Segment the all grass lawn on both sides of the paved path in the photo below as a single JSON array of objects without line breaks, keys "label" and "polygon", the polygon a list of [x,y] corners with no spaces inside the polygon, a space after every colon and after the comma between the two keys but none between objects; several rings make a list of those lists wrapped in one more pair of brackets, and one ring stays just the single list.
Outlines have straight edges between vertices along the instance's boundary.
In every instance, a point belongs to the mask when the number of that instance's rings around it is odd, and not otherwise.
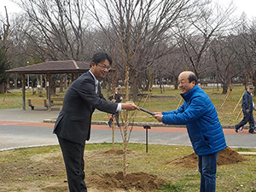
[{"label": "all grass lawn on both sides of the paved path", "polygon": [[[222,90],[216,88],[204,88],[212,99],[222,125],[234,125],[240,121],[236,119],[240,109],[233,112],[237,102],[244,91],[243,86],[235,86],[232,94],[220,108],[224,101]],[[21,108],[21,90],[10,90],[11,93],[0,94],[0,109]],[[153,112],[174,110],[177,108],[181,97],[179,90],[166,88],[160,94],[160,90],[154,89],[152,96],[145,101],[143,98],[137,105]],[[58,93],[64,96],[64,93]],[[105,92],[108,98],[110,93]],[[44,98],[45,93],[43,93]],[[38,98],[32,95],[32,91],[26,91],[26,99]],[[253,97],[254,100],[254,97]],[[131,112],[132,113],[132,112]],[[135,122],[156,122],[147,113],[136,112]],[[93,120],[107,121],[109,114],[96,113]],[[111,149],[111,143],[86,144],[84,152],[86,177],[106,172],[122,171],[122,155],[105,154]],[[122,143],[115,143],[115,148],[122,148]],[[145,145],[129,143],[128,172],[147,172],[171,180],[160,190],[154,192],[199,191],[200,174],[195,168],[170,167],[168,162],[182,158],[193,153],[193,148],[184,146],[148,145],[148,153],[145,153]],[[256,152],[255,148],[235,148],[236,151]],[[67,191],[67,179],[61,149],[59,146],[41,148],[19,148],[0,152],[0,191]],[[247,156],[247,160],[241,163],[218,166],[217,191],[256,191],[256,157]],[[90,192],[95,190],[90,189]],[[135,192],[137,190],[131,190]]]}]

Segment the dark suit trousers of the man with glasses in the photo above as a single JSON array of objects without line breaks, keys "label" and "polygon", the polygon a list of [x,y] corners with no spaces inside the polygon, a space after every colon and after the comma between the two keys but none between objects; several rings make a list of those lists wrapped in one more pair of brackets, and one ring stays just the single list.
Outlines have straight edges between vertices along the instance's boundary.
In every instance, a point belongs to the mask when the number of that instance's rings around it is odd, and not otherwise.
[{"label": "dark suit trousers of the man with glasses", "polygon": [[84,183],[84,145],[58,137],[67,172],[70,192],[87,192]]}]

